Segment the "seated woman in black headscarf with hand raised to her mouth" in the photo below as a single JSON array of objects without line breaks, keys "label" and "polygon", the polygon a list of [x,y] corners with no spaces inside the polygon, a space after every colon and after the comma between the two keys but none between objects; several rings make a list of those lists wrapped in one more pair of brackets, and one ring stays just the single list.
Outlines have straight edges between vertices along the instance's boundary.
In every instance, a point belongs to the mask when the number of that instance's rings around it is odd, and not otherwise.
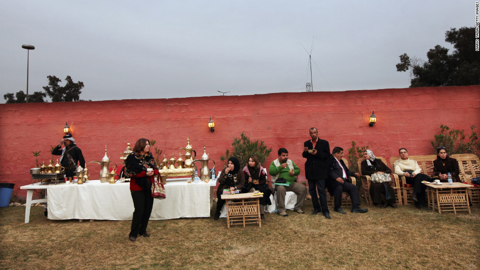
[{"label": "seated woman in black headscarf with hand raised to her mouth", "polygon": [[243,172],[240,172],[240,161],[237,158],[231,157],[228,159],[227,166],[223,168],[220,176],[218,177],[218,189],[216,190],[216,212],[214,220],[218,220],[220,217],[220,211],[222,210],[225,200],[221,199],[224,189],[241,190],[245,184],[245,177]]}]

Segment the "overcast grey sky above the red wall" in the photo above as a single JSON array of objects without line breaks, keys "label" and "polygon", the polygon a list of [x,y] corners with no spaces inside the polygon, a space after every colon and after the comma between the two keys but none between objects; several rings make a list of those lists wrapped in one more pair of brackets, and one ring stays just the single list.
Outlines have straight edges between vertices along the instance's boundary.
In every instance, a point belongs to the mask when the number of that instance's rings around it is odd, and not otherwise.
[{"label": "overcast grey sky above the red wall", "polygon": [[[48,75],[81,99],[406,88],[399,55],[427,59],[473,0],[1,0],[0,102]],[[473,48],[472,48],[473,49]]]}]

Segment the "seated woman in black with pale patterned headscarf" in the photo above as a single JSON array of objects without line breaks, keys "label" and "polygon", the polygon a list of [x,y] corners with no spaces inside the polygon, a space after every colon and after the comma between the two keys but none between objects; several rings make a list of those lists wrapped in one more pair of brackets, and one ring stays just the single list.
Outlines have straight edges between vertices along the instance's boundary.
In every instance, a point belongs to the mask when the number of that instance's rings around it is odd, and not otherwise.
[{"label": "seated woman in black with pale patterned headscarf", "polygon": [[382,160],[375,158],[371,150],[365,150],[363,157],[365,160],[360,164],[361,174],[370,176],[370,198],[373,204],[397,208],[395,191],[390,186],[392,170]]}]

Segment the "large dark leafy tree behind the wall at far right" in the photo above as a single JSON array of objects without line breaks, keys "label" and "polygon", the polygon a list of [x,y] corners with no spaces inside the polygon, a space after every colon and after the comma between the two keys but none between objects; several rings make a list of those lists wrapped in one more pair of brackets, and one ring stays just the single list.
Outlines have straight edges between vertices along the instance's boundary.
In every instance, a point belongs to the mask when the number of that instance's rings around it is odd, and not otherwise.
[{"label": "large dark leafy tree behind the wall at far right", "polygon": [[451,28],[445,41],[455,50],[436,45],[427,52],[428,61],[400,55],[397,71],[411,68],[410,87],[461,86],[480,84],[480,54],[475,52],[475,27]]}]

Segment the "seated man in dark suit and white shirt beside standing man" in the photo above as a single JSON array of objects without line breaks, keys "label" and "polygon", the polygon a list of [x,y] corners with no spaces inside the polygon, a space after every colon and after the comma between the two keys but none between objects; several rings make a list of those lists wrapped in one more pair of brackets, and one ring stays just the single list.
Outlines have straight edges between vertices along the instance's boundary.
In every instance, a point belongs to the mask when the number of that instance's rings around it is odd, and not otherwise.
[{"label": "seated man in dark suit and white shirt beside standing man", "polygon": [[350,194],[352,200],[352,213],[365,213],[368,209],[360,208],[359,189],[348,180],[349,176],[360,176],[359,173],[352,173],[342,160],[343,149],[336,146],[332,151],[332,156],[327,160],[328,180],[327,188],[330,195],[334,196],[334,211],[346,214],[341,208],[343,191]]}]

